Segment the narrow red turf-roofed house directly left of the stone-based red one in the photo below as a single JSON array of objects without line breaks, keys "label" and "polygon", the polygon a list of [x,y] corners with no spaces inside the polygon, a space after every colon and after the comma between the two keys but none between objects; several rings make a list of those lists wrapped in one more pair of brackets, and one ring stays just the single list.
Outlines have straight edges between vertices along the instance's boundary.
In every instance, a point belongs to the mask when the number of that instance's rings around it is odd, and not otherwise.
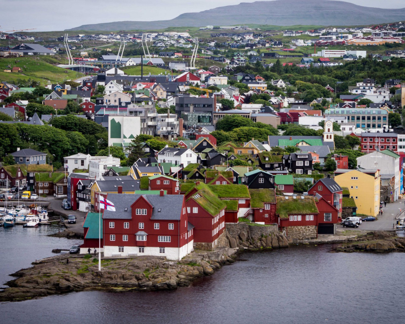
[{"label": "narrow red turf-roofed house directly left of the stone-based red one", "polygon": [[257,224],[277,224],[274,189],[249,189],[252,220]]}]

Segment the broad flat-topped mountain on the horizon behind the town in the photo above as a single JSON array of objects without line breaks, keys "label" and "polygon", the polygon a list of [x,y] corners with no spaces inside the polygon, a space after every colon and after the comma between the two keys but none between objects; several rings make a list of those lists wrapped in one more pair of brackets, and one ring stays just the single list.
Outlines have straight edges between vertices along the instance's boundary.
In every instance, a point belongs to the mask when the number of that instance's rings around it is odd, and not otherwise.
[{"label": "broad flat-topped mountain on the horizon behind the town", "polygon": [[243,2],[199,13],[183,13],[171,20],[115,21],[82,25],[69,30],[157,30],[168,27],[232,26],[248,23],[276,26],[353,26],[402,20],[405,20],[405,8],[371,8],[328,0],[277,0]]}]

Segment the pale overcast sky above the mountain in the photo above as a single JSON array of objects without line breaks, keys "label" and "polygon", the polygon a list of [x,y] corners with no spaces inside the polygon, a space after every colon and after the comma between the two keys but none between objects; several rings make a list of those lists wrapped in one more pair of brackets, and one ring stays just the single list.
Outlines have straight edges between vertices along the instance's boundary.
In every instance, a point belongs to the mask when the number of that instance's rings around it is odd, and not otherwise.
[{"label": "pale overcast sky above the mountain", "polygon": [[[64,30],[89,23],[173,19],[181,13],[256,0],[1,0],[0,30]],[[271,0],[269,0],[271,1]],[[345,0],[361,6],[403,8],[404,0]],[[305,0],[303,0],[305,2]],[[153,6],[151,6],[153,4]],[[203,23],[202,23],[203,24]]]}]

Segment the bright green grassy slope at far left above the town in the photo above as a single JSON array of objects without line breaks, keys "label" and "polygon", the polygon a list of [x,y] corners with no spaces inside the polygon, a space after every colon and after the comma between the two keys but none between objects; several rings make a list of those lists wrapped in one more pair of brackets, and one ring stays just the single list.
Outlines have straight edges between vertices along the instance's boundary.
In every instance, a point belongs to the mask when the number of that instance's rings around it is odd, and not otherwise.
[{"label": "bright green grassy slope at far left above the town", "polygon": [[[83,74],[59,68],[53,64],[61,64],[62,62],[58,57],[49,56],[26,56],[20,58],[2,58],[0,60],[0,80],[13,82],[17,79],[31,79],[40,81],[41,85],[44,81],[49,80],[52,83],[63,82],[64,80],[74,80]],[[22,73],[9,73],[3,72],[4,69],[19,66],[22,68]],[[66,73],[67,72],[67,73]]]}]

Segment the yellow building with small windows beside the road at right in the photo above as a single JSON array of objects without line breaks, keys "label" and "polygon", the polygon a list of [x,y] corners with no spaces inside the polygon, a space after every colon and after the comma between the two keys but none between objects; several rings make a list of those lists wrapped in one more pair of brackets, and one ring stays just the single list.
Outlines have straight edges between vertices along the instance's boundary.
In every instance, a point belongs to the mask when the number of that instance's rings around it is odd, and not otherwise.
[{"label": "yellow building with small windows beside the road at right", "polygon": [[350,198],[356,202],[357,213],[377,216],[380,201],[379,170],[342,170],[335,172],[335,181],[341,187],[349,188]]}]

